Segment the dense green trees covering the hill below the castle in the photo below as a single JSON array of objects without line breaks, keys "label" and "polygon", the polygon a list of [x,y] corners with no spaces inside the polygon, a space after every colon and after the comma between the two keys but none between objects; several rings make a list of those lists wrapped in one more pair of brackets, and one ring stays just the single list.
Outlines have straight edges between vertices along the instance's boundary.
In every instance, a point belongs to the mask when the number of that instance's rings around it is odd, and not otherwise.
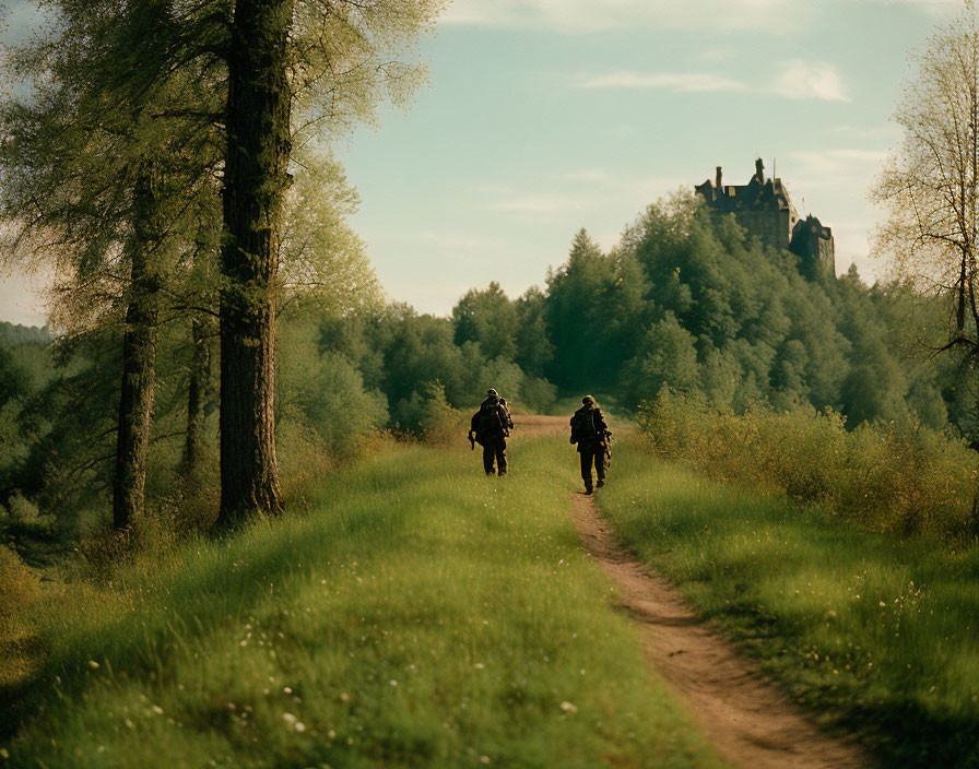
[{"label": "dense green trees covering the hill below the castle", "polygon": [[453,310],[475,341],[561,393],[597,390],[630,410],[664,386],[742,412],[766,401],[874,419],[952,422],[971,435],[975,393],[930,357],[943,305],[856,269],[803,277],[799,259],[677,196],[644,212],[609,253],[582,229],[545,288],[471,291]]}]

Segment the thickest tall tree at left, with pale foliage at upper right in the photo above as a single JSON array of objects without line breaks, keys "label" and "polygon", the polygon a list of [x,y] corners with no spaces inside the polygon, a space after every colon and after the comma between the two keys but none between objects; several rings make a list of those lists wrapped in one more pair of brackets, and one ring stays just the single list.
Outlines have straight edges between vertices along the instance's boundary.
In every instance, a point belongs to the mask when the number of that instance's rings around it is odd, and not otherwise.
[{"label": "thickest tall tree at left, with pale foliage at upper right", "polygon": [[[221,512],[281,506],[274,429],[278,241],[290,157],[318,128],[411,93],[398,60],[443,0],[235,0],[227,48],[221,283]],[[296,119],[298,118],[298,119]]]}]

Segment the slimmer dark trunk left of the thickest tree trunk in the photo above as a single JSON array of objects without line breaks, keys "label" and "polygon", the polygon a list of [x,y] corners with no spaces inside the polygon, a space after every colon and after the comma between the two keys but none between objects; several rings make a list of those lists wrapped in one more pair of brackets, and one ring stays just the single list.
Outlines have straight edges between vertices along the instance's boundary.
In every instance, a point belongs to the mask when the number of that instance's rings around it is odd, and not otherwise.
[{"label": "slimmer dark trunk left of the thickest tree trunk", "polygon": [[113,525],[128,529],[143,513],[143,490],[150,457],[150,416],[156,380],[156,321],[160,281],[151,264],[150,232],[153,189],[149,176],[133,188],[133,229],[130,242],[129,305],[122,332],[122,382],[116,436],[113,484]]}]

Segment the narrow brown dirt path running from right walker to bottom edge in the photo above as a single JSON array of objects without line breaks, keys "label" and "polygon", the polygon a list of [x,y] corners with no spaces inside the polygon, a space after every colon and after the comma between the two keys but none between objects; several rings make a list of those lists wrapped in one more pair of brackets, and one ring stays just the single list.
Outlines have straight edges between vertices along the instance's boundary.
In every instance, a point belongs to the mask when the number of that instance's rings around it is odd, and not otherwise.
[{"label": "narrow brown dirt path running from right walker to bottom edge", "polygon": [[586,549],[639,623],[648,664],[686,702],[723,759],[750,769],[872,766],[860,749],[823,734],[671,585],[634,560],[593,497],[576,493],[573,516]]}]

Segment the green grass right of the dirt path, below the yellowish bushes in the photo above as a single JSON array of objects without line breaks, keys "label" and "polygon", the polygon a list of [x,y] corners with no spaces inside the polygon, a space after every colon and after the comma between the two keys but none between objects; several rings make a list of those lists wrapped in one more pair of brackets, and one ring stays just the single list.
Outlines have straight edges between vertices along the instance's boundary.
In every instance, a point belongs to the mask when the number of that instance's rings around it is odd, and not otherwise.
[{"label": "green grass right of the dirt path, below the yellowish bushes", "polygon": [[818,509],[616,451],[620,535],[886,767],[979,767],[979,547],[866,533]]}]

